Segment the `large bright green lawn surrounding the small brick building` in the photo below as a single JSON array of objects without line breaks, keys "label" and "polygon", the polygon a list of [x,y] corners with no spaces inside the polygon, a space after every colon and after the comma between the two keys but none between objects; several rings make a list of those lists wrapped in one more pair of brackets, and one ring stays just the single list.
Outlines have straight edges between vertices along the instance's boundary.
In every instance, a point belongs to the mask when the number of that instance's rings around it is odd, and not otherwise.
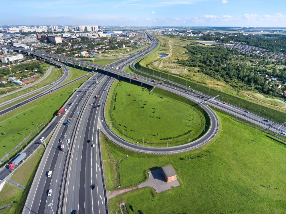
[{"label": "large bright green lawn surrounding the small brick building", "polygon": [[108,151],[116,151],[117,160],[128,155],[119,165],[123,188],[146,181],[147,171],[169,164],[180,183],[162,193],[145,187],[119,195],[109,201],[110,213],[118,211],[120,202],[127,203],[130,213],[130,205],[136,213],[142,210],[146,214],[285,213],[286,146],[229,115],[216,113],[221,132],[204,149],[149,155],[106,143]]}]

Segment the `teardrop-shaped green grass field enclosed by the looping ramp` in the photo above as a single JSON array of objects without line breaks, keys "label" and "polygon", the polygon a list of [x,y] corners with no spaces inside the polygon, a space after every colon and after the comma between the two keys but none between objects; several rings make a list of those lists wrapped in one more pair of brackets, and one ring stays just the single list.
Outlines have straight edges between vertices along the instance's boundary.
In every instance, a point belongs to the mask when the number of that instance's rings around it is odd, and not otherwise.
[{"label": "teardrop-shaped green grass field enclosed by the looping ramp", "polygon": [[149,93],[150,88],[129,82],[115,84],[106,109],[110,109],[110,127],[122,138],[143,143],[144,136],[144,145],[173,146],[192,141],[203,132],[205,115],[194,103],[172,99],[177,95],[157,88]]}]

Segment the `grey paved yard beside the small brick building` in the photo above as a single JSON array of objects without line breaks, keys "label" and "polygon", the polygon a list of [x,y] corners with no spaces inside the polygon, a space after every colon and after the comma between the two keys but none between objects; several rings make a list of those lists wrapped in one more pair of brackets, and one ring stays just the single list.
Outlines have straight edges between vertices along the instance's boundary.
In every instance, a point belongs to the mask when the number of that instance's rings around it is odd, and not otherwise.
[{"label": "grey paved yard beside the small brick building", "polygon": [[165,190],[171,189],[171,187],[180,186],[178,180],[167,183],[162,175],[162,168],[150,171],[148,172],[148,175],[149,175],[148,181],[139,184],[138,188],[153,187],[156,190],[156,193],[160,193]]}]

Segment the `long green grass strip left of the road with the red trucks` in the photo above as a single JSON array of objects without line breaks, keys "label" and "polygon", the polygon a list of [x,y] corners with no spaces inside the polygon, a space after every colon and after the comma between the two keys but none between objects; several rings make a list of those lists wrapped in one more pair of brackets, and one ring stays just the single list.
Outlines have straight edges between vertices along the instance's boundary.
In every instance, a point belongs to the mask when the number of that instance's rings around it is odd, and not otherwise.
[{"label": "long green grass strip left of the road with the red trucks", "polygon": [[[88,77],[84,78],[84,80],[86,79],[88,79]],[[11,151],[11,155],[15,155],[16,151],[12,149],[17,147],[21,142],[23,147],[26,146],[24,138],[26,138],[27,143],[33,139],[38,134],[37,126],[39,131],[41,131],[47,122],[57,113],[63,103],[72,95],[72,89],[79,87],[81,84],[82,80],[78,80],[68,86],[53,91],[49,95],[30,102],[29,105],[17,108],[17,112],[11,111],[2,115],[0,117],[0,121],[3,121],[0,123],[0,148],[3,149],[0,149],[0,157],[5,156],[5,149],[7,149],[7,153]],[[15,116],[16,114],[19,115]],[[3,135],[4,132],[5,134]]]}]

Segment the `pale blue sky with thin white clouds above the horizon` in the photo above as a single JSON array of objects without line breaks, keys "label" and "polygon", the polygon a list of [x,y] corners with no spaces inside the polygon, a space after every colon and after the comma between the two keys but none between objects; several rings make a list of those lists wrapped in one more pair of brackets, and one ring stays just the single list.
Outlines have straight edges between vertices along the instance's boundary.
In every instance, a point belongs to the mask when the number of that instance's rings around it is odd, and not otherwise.
[{"label": "pale blue sky with thin white clouds above the horizon", "polygon": [[0,25],[286,27],[283,0],[0,2]]}]

